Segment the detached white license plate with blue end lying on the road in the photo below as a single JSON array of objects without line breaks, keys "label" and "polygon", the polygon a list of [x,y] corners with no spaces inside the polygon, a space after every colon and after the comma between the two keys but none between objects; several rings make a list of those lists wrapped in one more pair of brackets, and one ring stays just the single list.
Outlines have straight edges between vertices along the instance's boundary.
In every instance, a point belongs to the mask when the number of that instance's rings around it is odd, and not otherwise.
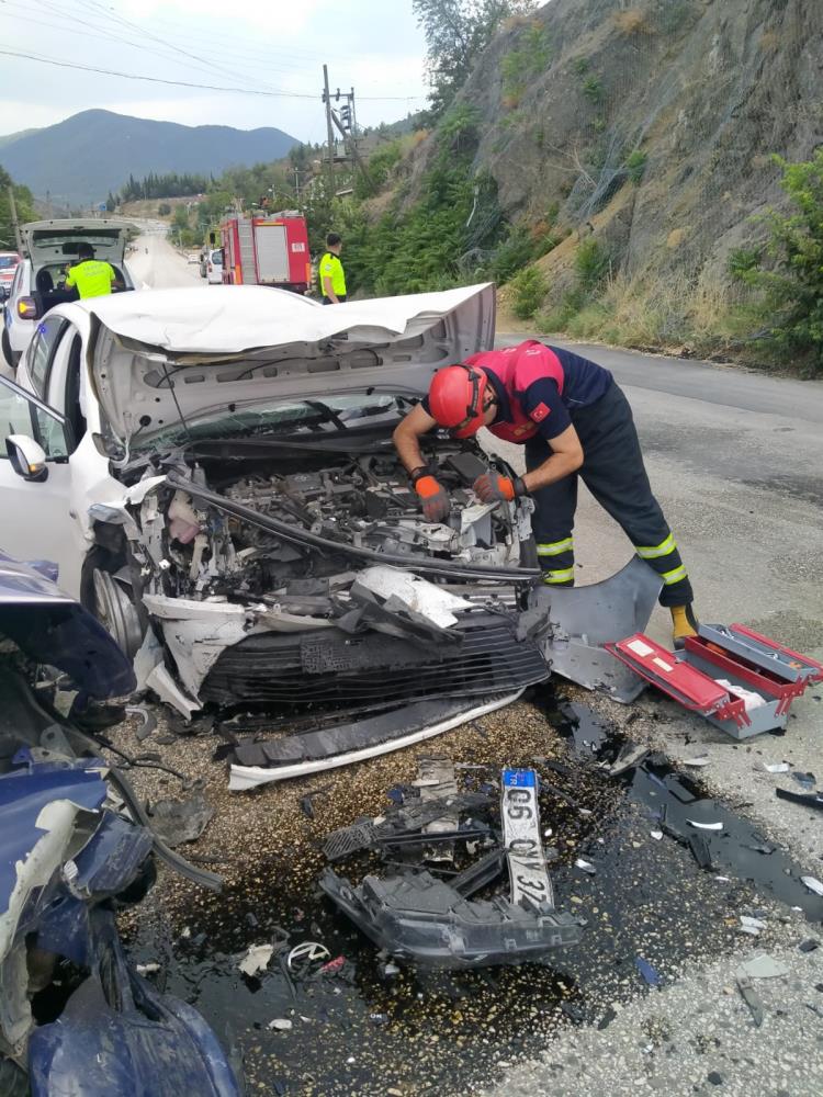
[{"label": "detached white license plate with blue end lying on the road", "polygon": [[511,880],[511,902],[527,909],[554,907],[554,895],[543,853],[538,805],[538,774],[533,769],[503,771],[503,836]]}]

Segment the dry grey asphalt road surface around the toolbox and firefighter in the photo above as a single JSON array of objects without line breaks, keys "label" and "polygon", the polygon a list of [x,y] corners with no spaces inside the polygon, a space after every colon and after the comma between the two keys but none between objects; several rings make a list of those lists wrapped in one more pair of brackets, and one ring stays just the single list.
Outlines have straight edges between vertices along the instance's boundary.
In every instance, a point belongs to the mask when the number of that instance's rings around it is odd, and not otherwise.
[{"label": "dry grey asphalt road surface around the toolbox and firefighter", "polygon": [[[519,341],[501,337],[501,343]],[[652,486],[681,546],[707,622],[742,622],[823,660],[823,383],[686,362],[602,347],[575,347],[615,373],[635,417]],[[517,461],[515,448],[508,455]],[[575,529],[578,579],[606,578],[631,555],[628,540],[587,491]],[[646,630],[669,640],[659,608]],[[674,761],[707,755],[700,777],[770,838],[823,877],[820,813],[775,796],[797,790],[791,770],[821,772],[823,687],[792,706],[782,737],[741,744],[669,702],[646,694],[631,711],[602,704],[631,737]],[[631,717],[631,724],[628,720]],[[601,1094],[757,1094],[812,1097],[823,1092],[820,951],[799,953],[820,926],[786,926],[768,951],[789,974],[760,981],[767,1003],[754,1029],[735,987],[740,957],[696,964],[670,988],[639,998],[602,1031],[571,1030],[489,1089],[495,1097],[599,1097]],[[741,938],[741,954],[756,945]],[[755,950],[756,951],[756,950]],[[811,1005],[809,1005],[811,1004]],[[663,1037],[661,1037],[661,1032]],[[711,1075],[711,1077],[710,1077]]]}]

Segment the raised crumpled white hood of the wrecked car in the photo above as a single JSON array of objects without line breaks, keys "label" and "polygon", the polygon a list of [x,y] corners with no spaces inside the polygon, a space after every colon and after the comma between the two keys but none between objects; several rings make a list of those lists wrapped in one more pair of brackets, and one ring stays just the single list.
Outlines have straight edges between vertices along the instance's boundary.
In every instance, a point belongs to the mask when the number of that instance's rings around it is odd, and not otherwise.
[{"label": "raised crumpled white hood of the wrecked car", "polygon": [[492,283],[323,307],[262,286],[153,290],[88,302],[93,383],[121,443],[229,404],[391,391],[494,341]]}]

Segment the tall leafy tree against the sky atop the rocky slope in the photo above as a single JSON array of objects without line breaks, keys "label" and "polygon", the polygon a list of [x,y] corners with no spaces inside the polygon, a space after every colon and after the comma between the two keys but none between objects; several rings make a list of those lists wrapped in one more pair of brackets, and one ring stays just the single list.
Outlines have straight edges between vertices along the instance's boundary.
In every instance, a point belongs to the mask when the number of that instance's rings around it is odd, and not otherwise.
[{"label": "tall leafy tree against the sky atop the rocky slope", "polygon": [[426,35],[426,65],[436,115],[449,106],[504,20],[532,12],[537,0],[412,0]]}]

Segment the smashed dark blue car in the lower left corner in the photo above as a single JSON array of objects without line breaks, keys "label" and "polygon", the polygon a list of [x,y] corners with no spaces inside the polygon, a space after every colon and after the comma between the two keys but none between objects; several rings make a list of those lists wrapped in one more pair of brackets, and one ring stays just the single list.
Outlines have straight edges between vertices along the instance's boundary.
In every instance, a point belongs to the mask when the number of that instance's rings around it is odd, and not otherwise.
[{"label": "smashed dark blue car in the lower left corner", "polygon": [[[43,666],[71,680],[68,716],[40,688]],[[83,726],[95,703],[133,687],[131,663],[48,566],[0,554],[3,1095],[241,1093],[205,1020],[143,979],[117,935],[117,911],[143,898],[157,858],[221,883],[151,833],[127,778]]]}]

